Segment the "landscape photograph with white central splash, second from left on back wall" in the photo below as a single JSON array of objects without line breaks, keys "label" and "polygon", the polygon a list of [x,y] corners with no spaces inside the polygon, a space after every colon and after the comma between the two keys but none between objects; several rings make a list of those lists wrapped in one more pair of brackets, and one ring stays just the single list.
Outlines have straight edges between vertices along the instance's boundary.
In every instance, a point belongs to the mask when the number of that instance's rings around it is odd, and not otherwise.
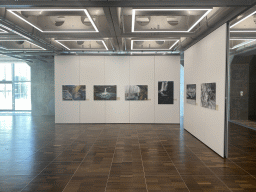
[{"label": "landscape photograph with white central splash, second from left on back wall", "polygon": [[94,85],[94,100],[116,100],[116,85]]}]

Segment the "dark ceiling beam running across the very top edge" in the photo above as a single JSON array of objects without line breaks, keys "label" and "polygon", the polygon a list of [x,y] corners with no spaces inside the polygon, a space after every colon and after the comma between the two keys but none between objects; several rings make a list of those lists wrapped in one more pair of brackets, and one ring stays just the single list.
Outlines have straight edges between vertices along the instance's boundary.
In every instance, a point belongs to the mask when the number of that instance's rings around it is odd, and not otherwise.
[{"label": "dark ceiling beam running across the very top edge", "polygon": [[82,0],[0,0],[0,7],[241,7],[251,6],[254,0],[119,0],[119,1],[82,1]]}]

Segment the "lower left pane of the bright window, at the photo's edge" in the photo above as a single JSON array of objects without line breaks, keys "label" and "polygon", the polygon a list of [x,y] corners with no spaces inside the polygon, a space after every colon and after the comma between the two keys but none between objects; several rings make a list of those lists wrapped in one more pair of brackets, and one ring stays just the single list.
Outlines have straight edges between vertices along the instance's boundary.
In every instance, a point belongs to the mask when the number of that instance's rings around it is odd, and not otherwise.
[{"label": "lower left pane of the bright window, at the photo's edge", "polygon": [[0,110],[12,110],[12,84],[0,84]]}]

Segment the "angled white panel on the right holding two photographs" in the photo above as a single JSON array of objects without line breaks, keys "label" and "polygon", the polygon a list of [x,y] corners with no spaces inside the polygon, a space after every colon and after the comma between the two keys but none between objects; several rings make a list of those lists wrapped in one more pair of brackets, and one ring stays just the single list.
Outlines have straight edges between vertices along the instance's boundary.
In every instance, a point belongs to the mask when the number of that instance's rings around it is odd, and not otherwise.
[{"label": "angled white panel on the right holding two photographs", "polygon": [[[184,53],[185,93],[196,84],[196,104],[184,102],[184,128],[224,157],[226,24]],[[201,84],[216,83],[216,110],[201,107]]]}]

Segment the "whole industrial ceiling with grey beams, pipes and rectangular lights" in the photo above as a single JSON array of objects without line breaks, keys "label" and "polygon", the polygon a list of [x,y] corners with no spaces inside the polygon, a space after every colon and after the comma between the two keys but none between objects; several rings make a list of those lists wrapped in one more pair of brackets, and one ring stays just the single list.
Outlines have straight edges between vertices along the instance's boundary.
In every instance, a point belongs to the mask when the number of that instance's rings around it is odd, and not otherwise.
[{"label": "whole industrial ceiling with grey beams, pipes and rectangular lights", "polygon": [[230,49],[254,45],[256,0],[0,0],[0,54],[180,54],[230,22]]}]

